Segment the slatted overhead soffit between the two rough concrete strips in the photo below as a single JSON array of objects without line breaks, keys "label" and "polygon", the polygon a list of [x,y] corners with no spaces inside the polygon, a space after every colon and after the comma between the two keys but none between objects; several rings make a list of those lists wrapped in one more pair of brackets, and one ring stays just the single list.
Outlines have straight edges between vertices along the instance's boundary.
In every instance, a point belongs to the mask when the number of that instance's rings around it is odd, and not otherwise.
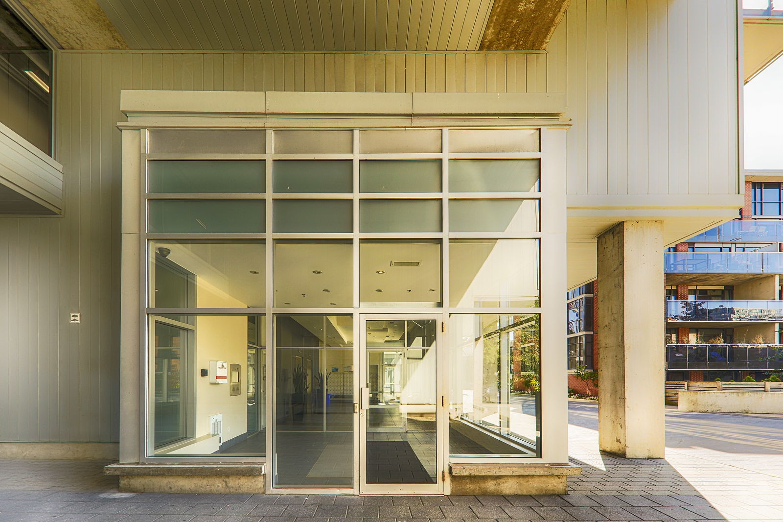
[{"label": "slatted overhead soffit between the two rough concrete strips", "polygon": [[131,49],[475,51],[493,0],[97,0]]}]

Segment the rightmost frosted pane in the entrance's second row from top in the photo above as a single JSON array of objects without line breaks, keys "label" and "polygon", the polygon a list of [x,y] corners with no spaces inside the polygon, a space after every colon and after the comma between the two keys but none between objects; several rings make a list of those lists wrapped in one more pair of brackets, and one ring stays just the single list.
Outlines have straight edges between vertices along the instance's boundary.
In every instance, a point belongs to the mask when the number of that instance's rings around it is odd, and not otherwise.
[{"label": "rightmost frosted pane in the entrance's second row from top", "polygon": [[449,161],[451,192],[537,192],[540,161],[452,160]]}]

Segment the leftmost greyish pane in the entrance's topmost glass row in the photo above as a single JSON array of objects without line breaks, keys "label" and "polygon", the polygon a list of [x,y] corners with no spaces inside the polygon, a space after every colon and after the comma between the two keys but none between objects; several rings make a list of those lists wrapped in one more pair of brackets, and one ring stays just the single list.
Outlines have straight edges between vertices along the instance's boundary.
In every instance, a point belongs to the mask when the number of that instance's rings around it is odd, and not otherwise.
[{"label": "leftmost greyish pane in the entrance's topmost glass row", "polygon": [[151,130],[150,152],[264,154],[262,130]]}]

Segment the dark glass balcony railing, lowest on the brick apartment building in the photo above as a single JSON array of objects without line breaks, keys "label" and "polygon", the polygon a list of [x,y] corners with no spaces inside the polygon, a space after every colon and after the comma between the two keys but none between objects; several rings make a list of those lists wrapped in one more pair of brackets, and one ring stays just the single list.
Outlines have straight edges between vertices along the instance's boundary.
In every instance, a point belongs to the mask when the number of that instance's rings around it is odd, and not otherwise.
[{"label": "dark glass balcony railing, lowest on the brick apartment building", "polygon": [[669,370],[775,370],[783,368],[783,345],[667,344]]}]

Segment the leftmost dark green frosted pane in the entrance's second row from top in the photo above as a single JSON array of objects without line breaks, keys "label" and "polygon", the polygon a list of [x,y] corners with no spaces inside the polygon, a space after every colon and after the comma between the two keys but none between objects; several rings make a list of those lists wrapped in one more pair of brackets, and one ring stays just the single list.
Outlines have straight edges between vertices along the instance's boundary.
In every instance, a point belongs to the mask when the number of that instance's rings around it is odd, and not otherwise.
[{"label": "leftmost dark green frosted pane in the entrance's second row from top", "polygon": [[264,161],[149,161],[153,193],[229,194],[265,191]]}]

